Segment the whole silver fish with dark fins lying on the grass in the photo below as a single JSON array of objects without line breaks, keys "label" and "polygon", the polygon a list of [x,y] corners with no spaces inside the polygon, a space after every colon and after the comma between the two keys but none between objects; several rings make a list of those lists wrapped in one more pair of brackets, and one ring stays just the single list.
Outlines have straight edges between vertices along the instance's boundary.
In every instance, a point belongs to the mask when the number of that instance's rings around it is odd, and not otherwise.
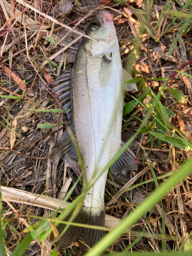
[{"label": "whole silver fish with dark fins lying on the grass", "polygon": [[[92,19],[86,37],[78,48],[72,71],[51,83],[52,93],[59,97],[60,107],[66,111],[69,127],[54,151],[74,168],[77,159],[69,130],[73,132],[84,165],[86,183],[94,185],[86,193],[81,210],[73,222],[105,226],[104,191],[108,170],[99,178],[103,168],[122,146],[121,126],[126,90],[137,90],[135,83],[124,81],[132,76],[122,69],[119,43],[113,14],[99,11]],[[111,166],[113,174],[122,170],[136,170],[136,156],[127,148]],[[61,232],[65,225],[59,224]],[[81,254],[86,253],[105,234],[105,231],[70,226],[57,246],[65,248],[79,242]]]}]

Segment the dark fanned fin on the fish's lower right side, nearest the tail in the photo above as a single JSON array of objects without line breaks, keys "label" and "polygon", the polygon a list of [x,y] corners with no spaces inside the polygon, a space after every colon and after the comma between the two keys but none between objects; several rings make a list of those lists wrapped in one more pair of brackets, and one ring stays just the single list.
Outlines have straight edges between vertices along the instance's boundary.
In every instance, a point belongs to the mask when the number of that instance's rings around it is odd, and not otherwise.
[{"label": "dark fanned fin on the fish's lower right side, nearest the tail", "polygon": [[[121,145],[124,143],[122,142]],[[120,174],[122,170],[137,170],[137,158],[128,147],[119,159],[111,166],[112,174]]]}]

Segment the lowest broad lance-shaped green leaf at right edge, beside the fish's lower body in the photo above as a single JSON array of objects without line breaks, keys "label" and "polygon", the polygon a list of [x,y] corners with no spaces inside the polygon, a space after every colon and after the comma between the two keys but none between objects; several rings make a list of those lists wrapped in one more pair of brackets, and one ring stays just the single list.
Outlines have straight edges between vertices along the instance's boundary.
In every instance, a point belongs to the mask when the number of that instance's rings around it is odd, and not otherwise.
[{"label": "lowest broad lance-shaped green leaf at right edge, beside the fish's lower body", "polygon": [[[165,134],[160,134],[160,133],[154,133],[150,132],[154,137],[156,137],[159,140],[165,141],[170,145],[176,146],[178,148],[181,148],[181,150],[190,150],[190,147],[187,146],[185,143],[183,143],[180,139],[169,137]],[[192,146],[192,144],[191,144]]]}]

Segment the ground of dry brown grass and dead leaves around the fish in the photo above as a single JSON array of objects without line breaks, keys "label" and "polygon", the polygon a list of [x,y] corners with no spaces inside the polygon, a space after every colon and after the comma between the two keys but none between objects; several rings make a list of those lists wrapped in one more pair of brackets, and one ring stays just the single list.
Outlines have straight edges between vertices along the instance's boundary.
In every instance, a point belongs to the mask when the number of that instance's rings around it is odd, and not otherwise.
[{"label": "ground of dry brown grass and dead leaves around the fish", "polygon": [[[173,20],[170,15],[164,14],[155,31],[166,1],[156,1],[152,8],[148,9],[150,12],[146,17],[147,26],[160,41],[160,44],[145,31],[137,49],[133,48],[133,42],[137,39],[137,34],[139,35],[140,23],[132,11],[134,8],[143,10],[142,0],[128,2],[132,9],[123,3],[114,6],[118,1],[96,2],[83,0],[79,5],[77,1],[61,0],[53,1],[52,7],[47,1],[36,1],[35,4],[31,4],[37,11],[41,10],[47,13],[49,18],[46,20],[34,9],[26,8],[23,12],[24,5],[21,2],[14,2],[16,10],[14,13],[17,15],[12,18],[12,25],[18,19],[12,27],[8,23],[0,32],[3,34],[9,30],[9,33],[5,33],[0,39],[2,56],[0,95],[17,97],[4,97],[0,101],[1,183],[3,217],[4,220],[7,220],[5,229],[8,252],[13,251],[16,244],[25,236],[21,231],[26,227],[23,220],[27,221],[27,216],[48,216],[50,210],[53,209],[51,204],[46,206],[44,200],[40,200],[40,195],[53,198],[53,202],[56,202],[54,199],[62,200],[68,188],[74,184],[77,178],[78,173],[63,163],[52,150],[55,141],[65,129],[65,124],[60,126],[58,124],[68,121],[66,116],[40,110],[58,109],[57,102],[49,93],[47,84],[56,79],[55,75],[72,68],[81,42],[81,33],[86,31],[93,15],[100,9],[106,9],[114,15],[122,66],[132,72],[134,77],[133,70],[137,70],[148,78],[169,78],[174,70],[179,69],[190,60],[192,50],[190,30],[176,42],[172,53],[168,54],[173,40],[180,36],[178,20],[169,26]],[[13,16],[12,4],[11,1],[1,0],[0,28],[6,24],[10,16]],[[177,2],[173,2],[172,9],[181,10],[181,7]],[[19,12],[23,13],[20,15]],[[51,17],[57,20],[57,24],[53,23]],[[64,28],[62,24],[75,28],[80,34]],[[128,66],[127,63],[129,63]],[[182,71],[191,75],[189,65]],[[22,81],[25,80],[25,84],[18,78]],[[168,90],[165,91],[165,98],[161,97],[160,99],[164,106],[174,112],[175,116],[170,117],[170,122],[182,133],[192,130],[191,82],[191,78],[181,74],[177,74],[168,81],[169,88],[178,89],[184,94],[185,103],[179,103]],[[162,81],[151,81],[150,86],[157,93],[162,86]],[[138,98],[143,92],[144,89],[139,87],[138,92],[132,95]],[[125,103],[132,99],[131,94],[127,92]],[[138,129],[146,111],[138,105],[131,114],[132,116],[123,117],[122,140],[124,142],[135,133],[135,129]],[[128,119],[129,122],[125,125],[125,121]],[[149,122],[151,121],[152,118]],[[40,128],[42,124],[48,124],[48,126]],[[50,124],[54,124],[55,127],[50,127]],[[184,134],[183,137],[185,137]],[[130,147],[138,158],[138,170],[120,175],[109,174],[106,181],[106,214],[116,219],[127,216],[155,189],[154,182],[150,182],[139,185],[121,196],[114,196],[122,187],[123,189],[129,188],[153,178],[147,158],[151,161],[156,176],[163,176],[158,180],[159,183],[166,180],[167,174],[187,160],[186,151],[172,147],[166,142],[159,145],[156,138],[154,138],[154,146],[151,148],[151,138],[148,133],[140,134]],[[187,177],[163,199],[166,234],[168,236],[174,234],[177,237],[177,241],[171,239],[166,241],[166,249],[170,251],[178,249],[181,239],[186,238],[192,230],[191,182],[191,176]],[[6,187],[9,189],[6,190]],[[80,187],[81,184],[76,187],[69,202],[79,195]],[[17,189],[22,190],[24,199]],[[39,195],[38,204],[30,201],[32,200],[30,193]],[[138,233],[144,228],[148,213],[131,228],[132,233],[123,235],[112,245],[113,251],[123,251],[138,237]],[[151,235],[161,234],[161,217],[162,209],[160,204],[157,204],[143,237],[133,246],[132,250],[157,252],[161,250],[161,239],[153,238]],[[30,218],[31,224],[35,221],[34,218]],[[49,243],[48,246],[51,248]],[[45,244],[40,246],[36,241],[28,247],[25,254],[32,256],[42,253],[43,255],[42,248],[46,250],[47,255],[50,255],[51,251]],[[76,253],[75,249],[71,251],[72,255]]]}]

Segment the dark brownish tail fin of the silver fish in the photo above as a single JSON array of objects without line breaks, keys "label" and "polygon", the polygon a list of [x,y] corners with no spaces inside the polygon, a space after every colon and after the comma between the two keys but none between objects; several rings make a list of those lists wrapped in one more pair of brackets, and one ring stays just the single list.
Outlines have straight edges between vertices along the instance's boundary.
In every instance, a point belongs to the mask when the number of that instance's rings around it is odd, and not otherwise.
[{"label": "dark brownish tail fin of the silver fish", "polygon": [[[82,208],[73,222],[104,227],[105,211],[101,211],[99,216],[94,216],[90,211],[84,211]],[[62,232],[63,228],[65,228],[65,224],[59,224],[57,226],[59,233]],[[81,255],[84,255],[84,253],[86,253],[89,248],[93,247],[104,234],[105,231],[99,229],[70,226],[66,233],[63,234],[62,238],[56,242],[56,245],[59,248],[65,248],[74,245],[75,242],[79,242]]]}]

